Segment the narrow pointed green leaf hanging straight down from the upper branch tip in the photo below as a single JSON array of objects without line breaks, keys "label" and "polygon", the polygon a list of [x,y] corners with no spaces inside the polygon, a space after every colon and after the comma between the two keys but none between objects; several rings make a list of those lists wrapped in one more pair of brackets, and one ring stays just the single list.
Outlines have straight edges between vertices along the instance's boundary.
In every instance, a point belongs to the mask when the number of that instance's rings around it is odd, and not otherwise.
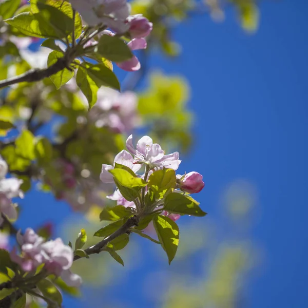
[{"label": "narrow pointed green leaf hanging straight down from the upper branch tip", "polygon": [[97,92],[99,87],[87,74],[87,71],[83,67],[79,67],[76,74],[76,83],[84,93],[89,103],[89,109],[91,109],[97,102]]}]

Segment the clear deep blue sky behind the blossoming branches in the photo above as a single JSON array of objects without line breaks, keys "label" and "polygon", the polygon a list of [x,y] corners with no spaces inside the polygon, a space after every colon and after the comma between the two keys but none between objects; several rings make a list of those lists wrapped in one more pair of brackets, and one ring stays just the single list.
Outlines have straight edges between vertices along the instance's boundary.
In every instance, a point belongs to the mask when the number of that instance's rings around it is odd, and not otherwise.
[{"label": "clear deep blue sky behind the blossoming branches", "polygon": [[[175,29],[183,48],[178,59],[153,55],[150,60],[189,80],[196,143],[181,171],[204,175],[198,200],[209,216],[219,224],[220,196],[230,182],[246,179],[257,188],[259,214],[251,236],[262,246],[264,260],[259,274],[248,280],[246,306],[251,308],[308,302],[307,9],[305,0],[264,1],[255,35],[240,29],[231,10],[221,24],[198,16]],[[37,217],[36,206],[29,207],[31,220],[24,216],[21,227],[57,217],[61,210],[59,222],[69,214],[66,205],[36,192],[23,204],[34,201],[44,202],[44,211]],[[155,263],[147,260],[148,266]],[[138,283],[146,268],[129,281]],[[136,292],[124,297],[136,303],[133,307],[150,307]],[[66,306],[75,305],[68,300]]]}]

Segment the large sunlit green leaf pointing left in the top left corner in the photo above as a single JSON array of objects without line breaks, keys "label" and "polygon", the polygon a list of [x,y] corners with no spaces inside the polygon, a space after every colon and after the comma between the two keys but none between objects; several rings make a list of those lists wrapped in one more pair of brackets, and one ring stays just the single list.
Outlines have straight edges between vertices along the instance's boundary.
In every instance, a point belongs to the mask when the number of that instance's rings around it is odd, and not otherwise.
[{"label": "large sunlit green leaf pointing left in the top left corner", "polygon": [[59,35],[44,20],[40,13],[32,14],[31,12],[24,12],[5,22],[29,36],[59,38]]}]

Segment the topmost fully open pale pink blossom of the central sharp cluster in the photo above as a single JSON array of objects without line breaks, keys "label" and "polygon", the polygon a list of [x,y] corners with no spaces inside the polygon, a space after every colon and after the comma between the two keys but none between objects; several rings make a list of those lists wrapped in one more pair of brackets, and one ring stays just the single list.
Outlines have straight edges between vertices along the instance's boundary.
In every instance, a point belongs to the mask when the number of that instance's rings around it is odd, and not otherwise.
[{"label": "topmost fully open pale pink blossom of the central sharp cluster", "polygon": [[134,156],[136,162],[147,164],[150,166],[150,169],[166,167],[177,170],[181,163],[179,152],[165,155],[161,146],[153,143],[152,139],[148,136],[139,139],[135,149],[132,144],[132,135],[130,135],[126,140],[126,148]]}]

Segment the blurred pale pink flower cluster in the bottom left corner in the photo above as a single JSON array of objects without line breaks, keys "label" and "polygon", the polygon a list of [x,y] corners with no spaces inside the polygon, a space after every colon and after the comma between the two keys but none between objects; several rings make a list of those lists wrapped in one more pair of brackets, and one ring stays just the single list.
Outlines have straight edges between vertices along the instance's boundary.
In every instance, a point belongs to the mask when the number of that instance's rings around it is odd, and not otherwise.
[{"label": "blurred pale pink flower cluster in the bottom left corner", "polygon": [[66,284],[81,285],[81,277],[70,271],[74,258],[72,248],[65,245],[61,238],[46,242],[31,228],[27,228],[24,235],[18,233],[16,238],[21,245],[22,255],[18,256],[14,248],[11,259],[20,265],[23,271],[30,272],[45,264],[44,268],[48,273],[61,276]]}]

